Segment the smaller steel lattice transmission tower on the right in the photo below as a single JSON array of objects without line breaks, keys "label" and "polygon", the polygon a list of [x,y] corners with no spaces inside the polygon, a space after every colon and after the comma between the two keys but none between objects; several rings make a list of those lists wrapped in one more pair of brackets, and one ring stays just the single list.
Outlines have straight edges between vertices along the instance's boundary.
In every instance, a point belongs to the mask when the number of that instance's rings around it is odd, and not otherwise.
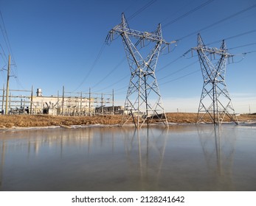
[{"label": "smaller steel lattice transmission tower on the right", "polygon": [[226,63],[233,57],[228,53],[225,41],[222,41],[220,49],[210,48],[204,45],[198,34],[198,45],[193,50],[198,53],[204,78],[196,124],[204,121],[207,116],[213,124],[221,124],[225,117],[238,124],[225,82]]}]

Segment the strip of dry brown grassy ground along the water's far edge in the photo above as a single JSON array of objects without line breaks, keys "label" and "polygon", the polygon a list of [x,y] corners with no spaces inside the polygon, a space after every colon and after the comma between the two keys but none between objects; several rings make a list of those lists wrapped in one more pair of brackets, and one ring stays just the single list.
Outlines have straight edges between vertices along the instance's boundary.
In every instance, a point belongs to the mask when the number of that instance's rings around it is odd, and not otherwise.
[{"label": "strip of dry brown grassy ground along the water's far edge", "polygon": [[[170,123],[196,123],[196,113],[167,113]],[[48,127],[86,124],[120,124],[122,116],[49,116],[49,115],[0,115],[0,128],[10,127]],[[206,119],[210,121],[210,119]],[[256,121],[256,114],[238,116],[238,121]]]}]

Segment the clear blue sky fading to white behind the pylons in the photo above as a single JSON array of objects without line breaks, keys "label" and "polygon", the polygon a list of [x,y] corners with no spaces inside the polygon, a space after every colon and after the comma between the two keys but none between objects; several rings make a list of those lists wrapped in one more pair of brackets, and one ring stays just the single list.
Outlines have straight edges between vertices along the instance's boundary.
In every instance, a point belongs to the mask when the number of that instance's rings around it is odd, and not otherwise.
[{"label": "clear blue sky fading to white behind the pylons", "polygon": [[[122,40],[117,38],[109,46],[104,43],[124,12],[131,29],[152,32],[161,23],[165,40],[181,39],[170,53],[160,54],[156,66],[167,112],[198,110],[203,85],[198,57],[189,53],[179,58],[196,46],[198,32],[211,47],[218,48],[226,39],[229,52],[236,54],[234,63],[226,67],[235,111],[256,112],[256,52],[249,53],[256,50],[255,4],[253,0],[0,0],[4,20],[0,68],[7,68],[5,56],[12,53],[11,89],[33,86],[34,92],[41,88],[46,96],[61,93],[63,85],[77,92],[114,89],[116,104],[122,105],[130,79]],[[6,76],[7,71],[1,70],[1,87]]]}]

